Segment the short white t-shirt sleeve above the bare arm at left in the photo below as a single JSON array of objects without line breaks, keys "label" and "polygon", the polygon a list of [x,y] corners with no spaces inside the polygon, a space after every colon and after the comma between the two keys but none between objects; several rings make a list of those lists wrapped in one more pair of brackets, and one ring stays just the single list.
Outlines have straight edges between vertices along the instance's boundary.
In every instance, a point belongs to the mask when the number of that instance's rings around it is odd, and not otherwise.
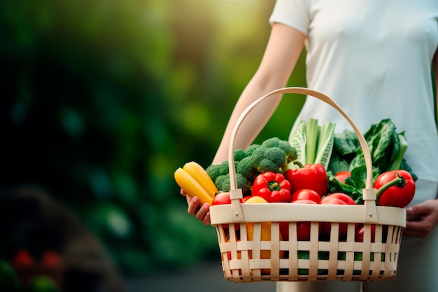
[{"label": "short white t-shirt sleeve above the bare arm at left", "polygon": [[307,35],[311,20],[308,1],[310,0],[277,0],[269,24],[278,22]]}]

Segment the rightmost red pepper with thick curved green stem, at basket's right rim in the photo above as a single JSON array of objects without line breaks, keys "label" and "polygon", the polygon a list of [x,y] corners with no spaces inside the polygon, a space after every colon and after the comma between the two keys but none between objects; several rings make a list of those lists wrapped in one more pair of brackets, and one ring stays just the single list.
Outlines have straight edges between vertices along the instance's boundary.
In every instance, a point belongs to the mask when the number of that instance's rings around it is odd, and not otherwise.
[{"label": "rightmost red pepper with thick curved green stem, at basket's right rim", "polygon": [[409,172],[398,169],[384,172],[374,181],[377,204],[387,207],[407,207],[415,195],[414,178]]}]

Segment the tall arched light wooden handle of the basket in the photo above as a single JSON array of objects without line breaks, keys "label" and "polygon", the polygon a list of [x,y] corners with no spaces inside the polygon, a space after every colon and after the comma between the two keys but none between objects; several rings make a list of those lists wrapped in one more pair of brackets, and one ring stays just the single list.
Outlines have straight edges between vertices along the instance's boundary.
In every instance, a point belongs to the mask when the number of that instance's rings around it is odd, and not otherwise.
[{"label": "tall arched light wooden handle of the basket", "polygon": [[[255,106],[257,106],[257,104],[262,102],[264,99],[267,99],[268,97],[272,97],[274,95],[283,95],[285,93],[302,94],[311,97],[316,97],[317,99],[320,99],[326,104],[329,104],[334,109],[337,109],[337,111],[339,111],[339,113],[341,113],[341,115],[344,116],[344,118],[346,118],[346,120],[351,125],[351,127],[353,127],[353,130],[359,139],[360,147],[362,148],[363,154],[365,156],[365,166],[367,167],[367,180],[363,192],[364,204],[366,206],[364,221],[367,223],[376,222],[377,221],[376,195],[375,195],[376,190],[372,186],[372,158],[371,158],[371,154],[369,153],[369,148],[367,145],[367,141],[365,140],[365,137],[363,136],[362,132],[360,132],[360,130],[355,125],[355,123],[350,118],[350,116],[348,116],[348,114],[343,109],[341,109],[341,106],[339,106],[339,104],[334,102],[333,99],[316,90],[310,90],[309,88],[300,88],[300,87],[279,88],[277,90],[269,92],[267,95],[260,97],[259,99],[255,100],[252,104],[250,104],[245,109],[245,111],[243,111],[243,113],[241,113],[241,116],[237,120],[236,125],[234,125],[234,129],[229,141],[228,161],[229,161],[229,179],[230,179],[230,187],[231,187],[230,197],[232,199],[232,205],[234,206],[233,211],[236,212],[236,217],[241,217],[241,218],[234,218],[235,221],[241,222],[244,220],[244,218],[242,218],[243,214],[241,212],[241,207],[238,200],[241,197],[243,197],[243,194],[240,189],[239,190],[237,189],[236,169],[234,167],[234,141],[236,140],[237,132],[239,131],[239,128],[243,120],[246,118],[246,116],[248,116],[248,113],[250,113],[250,111],[252,111],[255,108]],[[242,214],[242,216],[239,216],[239,214]]]}]

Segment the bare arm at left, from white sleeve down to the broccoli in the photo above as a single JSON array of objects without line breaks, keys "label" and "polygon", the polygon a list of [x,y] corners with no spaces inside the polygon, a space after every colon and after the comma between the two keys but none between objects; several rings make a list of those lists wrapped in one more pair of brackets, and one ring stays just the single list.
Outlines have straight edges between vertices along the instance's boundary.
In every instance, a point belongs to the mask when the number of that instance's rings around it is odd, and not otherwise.
[{"label": "bare arm at left, from white sleeve down to the broccoli", "polygon": [[[220,164],[227,160],[229,138],[241,113],[255,99],[286,85],[304,47],[304,38],[302,32],[291,27],[281,24],[272,26],[260,67],[246,85],[234,107],[225,134],[213,159],[213,164]],[[246,149],[254,141],[280,101],[281,96],[273,97],[251,111],[239,129],[239,139],[237,139],[234,148]]]}]

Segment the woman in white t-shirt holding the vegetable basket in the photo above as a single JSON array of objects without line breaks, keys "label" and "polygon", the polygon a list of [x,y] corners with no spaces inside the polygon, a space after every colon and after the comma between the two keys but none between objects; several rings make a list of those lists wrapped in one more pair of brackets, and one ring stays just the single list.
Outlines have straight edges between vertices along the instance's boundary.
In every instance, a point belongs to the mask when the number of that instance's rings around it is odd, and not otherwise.
[{"label": "woman in white t-shirt holding the vegetable basket", "polygon": [[[438,76],[438,1],[278,0],[269,22],[271,35],[260,67],[236,103],[212,163],[227,160],[229,137],[241,112],[258,97],[285,87],[305,46],[308,87],[332,97],[364,132],[391,118],[397,130],[406,131],[405,158],[418,175],[397,277],[365,283],[364,291],[438,291],[438,97],[430,74],[433,70]],[[236,148],[252,143],[281,97],[269,100],[243,122]],[[337,132],[349,129],[339,113],[311,97],[295,125],[309,118],[334,122]],[[209,224],[209,206],[199,207],[196,197],[188,197],[188,213]],[[348,292],[359,291],[360,284],[280,282],[277,290]]]}]

